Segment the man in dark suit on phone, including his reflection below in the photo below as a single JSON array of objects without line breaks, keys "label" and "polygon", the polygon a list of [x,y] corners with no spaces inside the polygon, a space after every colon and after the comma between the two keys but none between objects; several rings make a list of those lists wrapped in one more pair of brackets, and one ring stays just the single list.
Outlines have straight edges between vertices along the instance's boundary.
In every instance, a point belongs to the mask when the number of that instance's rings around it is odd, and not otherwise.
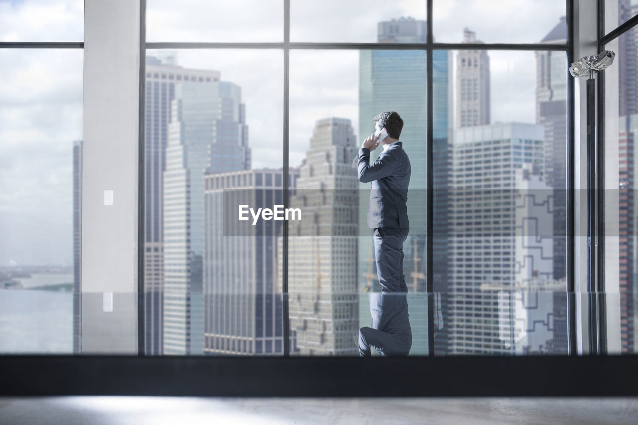
[{"label": "man in dark suit on phone, including his reflection below", "polygon": [[[372,327],[359,330],[359,355],[408,355],[412,330],[408,320],[408,287],[403,276],[403,242],[408,237],[408,184],[410,160],[399,142],[403,119],[396,112],[382,112],[373,118],[376,132],[359,149],[359,181],[372,182],[367,207],[367,227],[373,229],[376,273],[381,292],[370,294]],[[387,133],[387,135],[386,135]],[[383,146],[379,158],[370,164],[370,152]]]}]

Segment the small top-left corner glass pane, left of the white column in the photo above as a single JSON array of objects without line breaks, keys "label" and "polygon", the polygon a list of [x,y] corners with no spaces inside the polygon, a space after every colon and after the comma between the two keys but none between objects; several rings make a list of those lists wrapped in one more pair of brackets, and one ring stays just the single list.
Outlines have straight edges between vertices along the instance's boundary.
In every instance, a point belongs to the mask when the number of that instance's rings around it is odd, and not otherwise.
[{"label": "small top-left corner glass pane, left of the white column", "polygon": [[0,1],[0,41],[84,41],[84,1]]}]

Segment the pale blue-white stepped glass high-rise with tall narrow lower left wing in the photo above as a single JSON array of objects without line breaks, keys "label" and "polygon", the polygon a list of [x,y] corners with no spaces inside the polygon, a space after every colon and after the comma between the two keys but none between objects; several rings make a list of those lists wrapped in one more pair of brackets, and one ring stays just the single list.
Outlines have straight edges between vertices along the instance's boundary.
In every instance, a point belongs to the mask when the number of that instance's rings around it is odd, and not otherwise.
[{"label": "pale blue-white stepped glass high-rise with tall narrow lower left wing", "polygon": [[171,102],[163,181],[164,354],[203,352],[204,173],[250,168],[241,89],[214,81],[218,76],[200,71],[197,80],[182,80]]}]

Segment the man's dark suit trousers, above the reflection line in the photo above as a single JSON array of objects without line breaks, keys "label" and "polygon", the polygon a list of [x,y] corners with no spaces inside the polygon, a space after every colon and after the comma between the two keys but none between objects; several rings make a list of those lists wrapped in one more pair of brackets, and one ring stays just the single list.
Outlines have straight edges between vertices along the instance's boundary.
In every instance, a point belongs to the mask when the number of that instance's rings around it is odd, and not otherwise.
[{"label": "man's dark suit trousers, above the reflection line", "polygon": [[408,292],[403,275],[403,242],[409,228],[376,227],[375,240],[376,274],[381,292]]}]

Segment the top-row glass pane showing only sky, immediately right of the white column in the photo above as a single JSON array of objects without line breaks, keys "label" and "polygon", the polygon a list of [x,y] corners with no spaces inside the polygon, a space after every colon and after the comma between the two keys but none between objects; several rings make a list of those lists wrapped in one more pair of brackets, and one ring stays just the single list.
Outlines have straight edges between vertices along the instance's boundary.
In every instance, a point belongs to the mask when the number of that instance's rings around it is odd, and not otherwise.
[{"label": "top-row glass pane showing only sky, immediately right of the white column", "polygon": [[283,42],[283,1],[146,2],[146,41]]}]

